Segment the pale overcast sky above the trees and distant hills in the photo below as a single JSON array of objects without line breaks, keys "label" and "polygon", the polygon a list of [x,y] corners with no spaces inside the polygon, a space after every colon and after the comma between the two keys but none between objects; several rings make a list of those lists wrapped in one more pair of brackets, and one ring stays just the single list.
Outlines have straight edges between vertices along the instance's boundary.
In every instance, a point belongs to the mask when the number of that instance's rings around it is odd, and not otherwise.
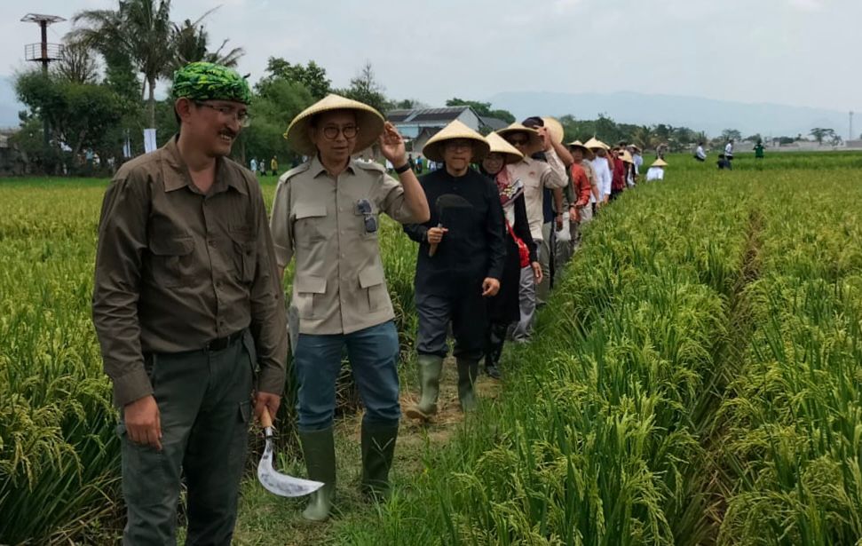
[{"label": "pale overcast sky above the trees and distant hills", "polygon": [[[211,6],[174,0],[172,19]],[[223,0],[212,44],[241,46],[242,74],[266,59],[315,60],[346,86],[369,60],[386,94],[440,105],[497,91],[641,91],[862,109],[862,0]],[[24,7],[17,7],[24,6]],[[71,18],[116,0],[0,4],[0,75],[39,40],[27,12]],[[59,23],[49,41],[71,28]]]}]

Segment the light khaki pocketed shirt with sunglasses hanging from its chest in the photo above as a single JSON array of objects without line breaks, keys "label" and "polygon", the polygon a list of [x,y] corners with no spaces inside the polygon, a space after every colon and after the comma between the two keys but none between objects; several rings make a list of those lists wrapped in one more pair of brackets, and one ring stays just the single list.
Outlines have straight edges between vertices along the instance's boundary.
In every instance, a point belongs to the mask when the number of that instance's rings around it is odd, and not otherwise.
[{"label": "light khaki pocketed shirt with sunglasses hanging from its chest", "polygon": [[337,178],[315,156],[279,179],[271,228],[278,265],[297,257],[291,305],[301,334],[350,334],[395,318],[377,245],[358,209],[415,222],[404,188],[377,163],[352,160]]}]

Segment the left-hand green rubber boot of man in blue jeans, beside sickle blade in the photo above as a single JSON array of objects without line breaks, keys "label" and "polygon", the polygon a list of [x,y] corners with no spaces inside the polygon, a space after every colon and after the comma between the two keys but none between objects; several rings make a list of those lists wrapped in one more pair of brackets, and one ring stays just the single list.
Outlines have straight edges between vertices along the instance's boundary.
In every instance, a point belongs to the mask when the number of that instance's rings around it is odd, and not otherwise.
[{"label": "left-hand green rubber boot of man in blue jeans, beside sickle blade", "polygon": [[308,479],[322,481],[323,487],[309,495],[303,518],[323,521],[329,517],[332,501],[336,496],[336,444],[332,427],[322,431],[299,432],[303,445],[305,468]]}]

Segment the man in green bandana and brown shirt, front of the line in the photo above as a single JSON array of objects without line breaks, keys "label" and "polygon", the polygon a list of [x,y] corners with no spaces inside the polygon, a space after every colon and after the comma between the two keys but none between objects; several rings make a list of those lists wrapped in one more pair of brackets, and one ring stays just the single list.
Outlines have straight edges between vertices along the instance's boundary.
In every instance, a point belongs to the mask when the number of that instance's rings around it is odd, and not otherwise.
[{"label": "man in green bandana and brown shirt, front of the line", "polygon": [[229,544],[252,415],[275,415],[287,321],[257,179],[226,156],[248,83],[192,63],[171,90],[179,134],[127,162],[99,221],[93,322],[120,409],[124,544]]}]

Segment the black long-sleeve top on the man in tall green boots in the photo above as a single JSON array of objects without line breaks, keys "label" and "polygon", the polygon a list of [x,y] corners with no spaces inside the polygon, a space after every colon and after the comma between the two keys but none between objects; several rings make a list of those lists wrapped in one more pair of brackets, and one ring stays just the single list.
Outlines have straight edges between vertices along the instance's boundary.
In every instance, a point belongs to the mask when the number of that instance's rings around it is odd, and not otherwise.
[{"label": "black long-sleeve top on the man in tall green boots", "polygon": [[[416,290],[447,293],[458,283],[472,284],[486,277],[500,280],[506,257],[505,225],[500,195],[493,181],[475,170],[455,178],[439,169],[419,178],[431,208],[431,219],[424,224],[407,224],[404,231],[419,243],[416,260]],[[472,209],[444,212],[442,224],[448,228],[437,252],[428,256],[428,228],[441,223],[437,200],[440,195],[460,195]]]}]

